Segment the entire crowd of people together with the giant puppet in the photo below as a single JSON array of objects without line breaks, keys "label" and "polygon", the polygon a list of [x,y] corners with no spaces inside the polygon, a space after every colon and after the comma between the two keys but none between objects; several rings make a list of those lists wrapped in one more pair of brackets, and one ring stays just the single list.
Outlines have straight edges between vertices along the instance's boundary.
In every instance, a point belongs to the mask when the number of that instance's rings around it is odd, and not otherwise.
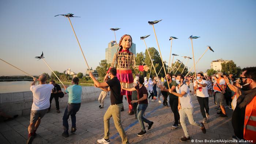
[{"label": "entire crowd of people together with the giant puppet", "polygon": [[[186,118],[191,125],[198,127],[202,132],[206,133],[204,124],[207,124],[209,114],[209,96],[214,96],[215,109],[219,112],[219,117],[227,119],[231,117],[227,115],[227,110],[234,110],[232,114],[232,126],[234,128],[233,139],[246,140],[251,143],[256,142],[256,67],[243,69],[241,77],[235,80],[234,76],[229,76],[218,72],[212,76],[204,76],[202,72],[195,75],[183,76],[181,74],[172,75],[167,73],[165,78],[157,76],[139,77],[138,75],[133,79],[131,65],[140,71],[148,69],[146,65],[136,66],[135,62],[130,64],[128,62],[134,61],[134,54],[129,52],[131,48],[132,39],[130,35],[121,37],[119,46],[120,51],[114,57],[120,69],[114,68],[114,62],[109,68],[103,82],[98,82],[92,73],[89,76],[94,82],[94,86],[100,88],[99,108],[104,108],[104,99],[107,92],[110,91],[110,106],[106,110],[104,122],[104,137],[97,140],[101,144],[109,144],[109,129],[110,118],[113,117],[114,126],[116,127],[123,144],[128,144],[128,138],[125,130],[121,124],[121,111],[123,111],[123,95],[126,95],[128,102],[128,113],[135,113],[135,118],[141,126],[141,131],[137,134],[143,136],[147,130],[150,130],[154,125],[153,121],[144,117],[148,103],[155,102],[158,99],[159,103],[171,108],[174,117],[173,129],[180,125],[184,131],[184,136],[180,141],[190,140],[187,126],[185,124]],[[125,59],[125,58],[126,59]],[[133,59],[132,59],[133,58]],[[128,60],[130,59],[130,60]],[[121,64],[119,64],[119,62]],[[29,136],[27,144],[32,143],[35,138],[36,131],[40,125],[41,119],[50,111],[50,103],[55,99],[57,113],[60,113],[59,97],[63,97],[64,93],[58,84],[51,81],[46,84],[46,76],[41,75],[39,79],[34,78],[31,83],[30,90],[33,92],[33,104],[30,114],[30,125],[28,128]],[[35,83],[39,81],[38,85]],[[79,79],[74,77],[71,86],[64,87],[65,94],[68,93],[68,103],[63,114],[63,133],[62,136],[69,136],[68,119],[71,116],[71,133],[76,131],[76,113],[81,106],[82,87],[79,86]],[[169,99],[167,100],[169,96]],[[198,122],[193,118],[193,104],[192,96],[196,96],[203,121]],[[162,101],[161,101],[162,97]],[[169,102],[169,105],[168,105]]]}]

